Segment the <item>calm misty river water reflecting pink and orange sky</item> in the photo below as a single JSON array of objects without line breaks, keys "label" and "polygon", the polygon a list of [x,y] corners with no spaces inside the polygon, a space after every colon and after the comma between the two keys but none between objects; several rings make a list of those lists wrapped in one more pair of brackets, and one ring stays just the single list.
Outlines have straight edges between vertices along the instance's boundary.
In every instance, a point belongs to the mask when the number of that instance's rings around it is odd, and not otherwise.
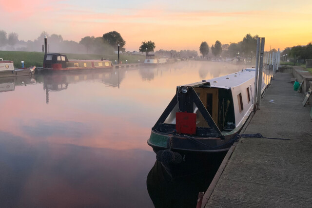
[{"label": "calm misty river water reflecting pink and orange sky", "polygon": [[189,61],[0,78],[1,207],[153,207],[147,139],[176,86],[243,68]]}]

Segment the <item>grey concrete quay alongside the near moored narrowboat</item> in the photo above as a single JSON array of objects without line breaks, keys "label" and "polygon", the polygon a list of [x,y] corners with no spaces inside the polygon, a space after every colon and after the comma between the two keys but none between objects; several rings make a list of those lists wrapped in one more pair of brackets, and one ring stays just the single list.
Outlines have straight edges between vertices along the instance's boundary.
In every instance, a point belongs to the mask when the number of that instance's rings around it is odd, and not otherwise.
[{"label": "grey concrete quay alongside the near moored narrowboat", "polygon": [[[311,103],[293,90],[292,74],[277,73],[244,134],[229,151],[202,207],[312,207]],[[206,204],[207,202],[207,204]]]}]

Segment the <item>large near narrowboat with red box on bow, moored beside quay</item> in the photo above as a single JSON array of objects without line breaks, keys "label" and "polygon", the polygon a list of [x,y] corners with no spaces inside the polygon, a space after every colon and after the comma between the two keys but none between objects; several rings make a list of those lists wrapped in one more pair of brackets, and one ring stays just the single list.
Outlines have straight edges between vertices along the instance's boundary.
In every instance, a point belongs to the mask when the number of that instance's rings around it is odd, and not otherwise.
[{"label": "large near narrowboat with red box on bow, moored beside quay", "polygon": [[244,69],[177,86],[147,141],[156,159],[166,168],[187,161],[197,164],[198,158],[210,165],[222,161],[253,111],[254,82],[255,69]]}]

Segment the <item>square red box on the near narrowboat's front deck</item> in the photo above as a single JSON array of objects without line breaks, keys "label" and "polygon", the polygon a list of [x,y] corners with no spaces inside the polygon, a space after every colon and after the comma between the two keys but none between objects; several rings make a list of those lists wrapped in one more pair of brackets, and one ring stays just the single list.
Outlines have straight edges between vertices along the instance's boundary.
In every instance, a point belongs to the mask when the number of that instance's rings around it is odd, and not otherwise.
[{"label": "square red box on the near narrowboat's front deck", "polygon": [[176,112],[176,132],[196,133],[196,113]]}]

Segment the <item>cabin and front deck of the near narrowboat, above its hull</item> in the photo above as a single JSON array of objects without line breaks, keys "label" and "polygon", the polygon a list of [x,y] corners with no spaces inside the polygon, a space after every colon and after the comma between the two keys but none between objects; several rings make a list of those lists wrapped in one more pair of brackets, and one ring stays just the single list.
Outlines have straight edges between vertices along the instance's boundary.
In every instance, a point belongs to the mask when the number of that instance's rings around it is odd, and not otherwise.
[{"label": "cabin and front deck of the near narrowboat, above its hull", "polygon": [[238,131],[252,111],[253,88],[254,69],[177,86],[152,130],[202,137]]}]

